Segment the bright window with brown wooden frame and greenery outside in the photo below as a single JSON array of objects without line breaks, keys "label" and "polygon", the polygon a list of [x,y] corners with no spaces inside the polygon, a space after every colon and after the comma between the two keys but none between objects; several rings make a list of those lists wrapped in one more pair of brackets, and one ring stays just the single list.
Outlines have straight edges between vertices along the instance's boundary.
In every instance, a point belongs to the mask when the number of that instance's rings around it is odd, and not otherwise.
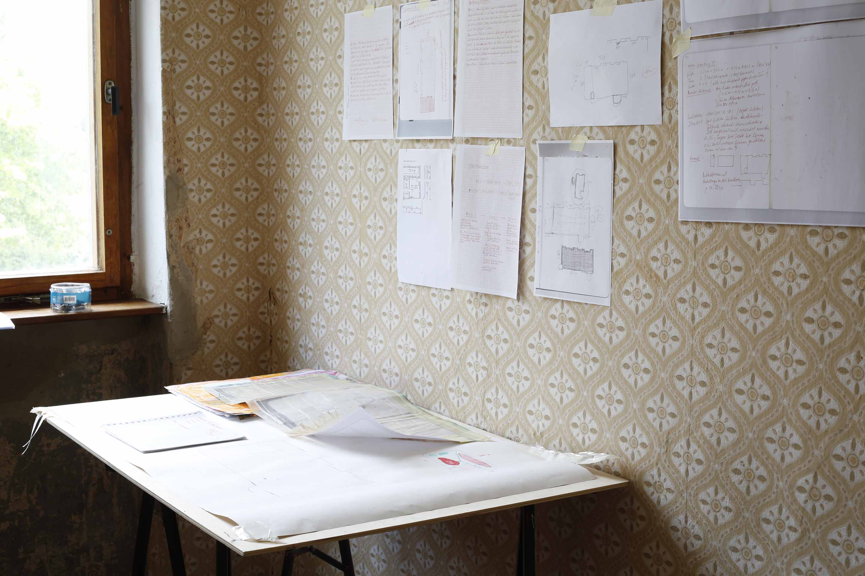
[{"label": "bright window with brown wooden frame and greenery outside", "polygon": [[54,282],[129,295],[128,5],[0,3],[0,296]]}]

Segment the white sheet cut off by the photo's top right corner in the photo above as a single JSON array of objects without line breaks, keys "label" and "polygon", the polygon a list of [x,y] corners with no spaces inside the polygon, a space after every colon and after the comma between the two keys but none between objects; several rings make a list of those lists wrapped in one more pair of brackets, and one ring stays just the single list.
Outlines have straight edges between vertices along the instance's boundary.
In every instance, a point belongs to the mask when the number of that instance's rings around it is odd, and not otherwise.
[{"label": "white sheet cut off by the photo's top right corner", "polygon": [[682,0],[682,29],[703,36],[865,18],[865,0]]}]

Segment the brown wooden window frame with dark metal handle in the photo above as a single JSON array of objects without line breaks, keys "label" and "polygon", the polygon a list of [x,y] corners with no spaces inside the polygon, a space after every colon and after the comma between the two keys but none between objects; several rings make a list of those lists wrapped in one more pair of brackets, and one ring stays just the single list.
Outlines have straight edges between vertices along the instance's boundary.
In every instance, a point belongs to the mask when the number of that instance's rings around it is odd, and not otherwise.
[{"label": "brown wooden window frame with dark metal handle", "polygon": [[[89,282],[93,301],[131,298],[132,106],[128,0],[93,0],[95,125],[99,179],[96,234],[99,270],[0,277],[0,296],[45,294],[54,282]],[[119,116],[102,97],[106,80],[119,87]],[[109,235],[107,231],[111,231]]]}]

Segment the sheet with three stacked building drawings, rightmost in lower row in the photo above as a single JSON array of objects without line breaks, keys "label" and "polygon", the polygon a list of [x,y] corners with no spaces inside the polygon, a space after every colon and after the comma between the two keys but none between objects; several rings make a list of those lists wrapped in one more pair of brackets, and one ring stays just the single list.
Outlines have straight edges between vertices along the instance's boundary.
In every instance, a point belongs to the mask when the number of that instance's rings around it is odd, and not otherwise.
[{"label": "sheet with three stacked building drawings, rightmost in lower row", "polygon": [[608,298],[612,160],[542,157],[538,213],[535,291]]}]

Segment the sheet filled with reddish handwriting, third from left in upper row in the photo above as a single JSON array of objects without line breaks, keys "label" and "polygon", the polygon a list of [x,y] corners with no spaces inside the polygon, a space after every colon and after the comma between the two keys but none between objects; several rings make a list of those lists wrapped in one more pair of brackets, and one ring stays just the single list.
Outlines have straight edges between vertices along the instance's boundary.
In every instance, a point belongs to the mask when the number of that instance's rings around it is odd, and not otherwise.
[{"label": "sheet filled with reddish handwriting, third from left in upper row", "polygon": [[522,138],[522,4],[460,5],[454,136]]}]

